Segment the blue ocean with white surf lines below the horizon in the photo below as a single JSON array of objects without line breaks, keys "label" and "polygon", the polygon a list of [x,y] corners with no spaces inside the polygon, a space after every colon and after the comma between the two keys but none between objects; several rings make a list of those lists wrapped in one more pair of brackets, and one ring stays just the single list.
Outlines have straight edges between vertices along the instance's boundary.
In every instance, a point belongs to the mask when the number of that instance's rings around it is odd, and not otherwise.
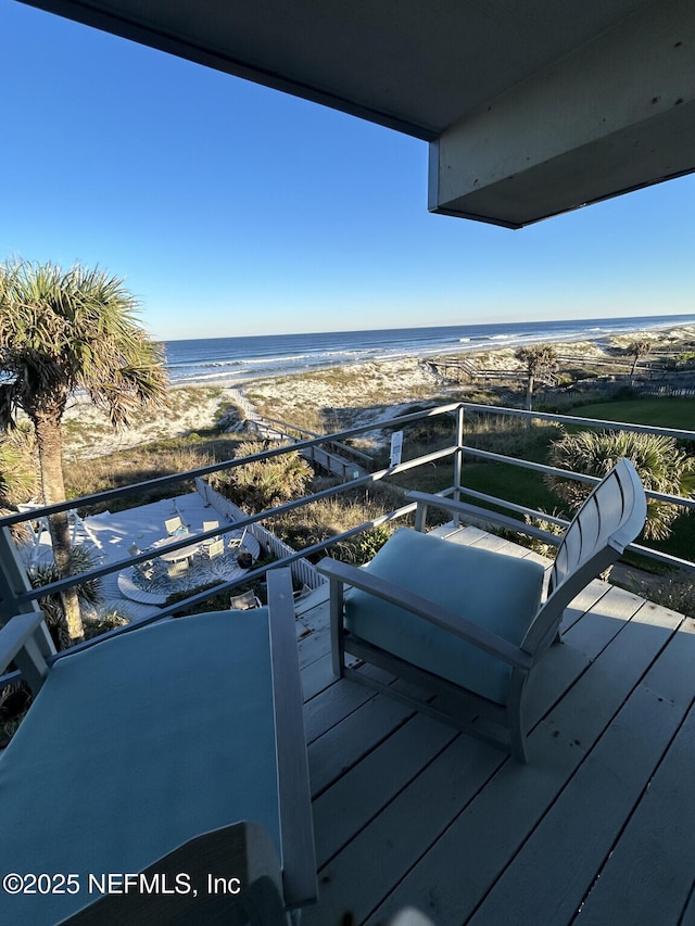
[{"label": "blue ocean with white surf lines below the horizon", "polygon": [[599,339],[629,331],[685,325],[695,325],[695,315],[205,338],[165,341],[164,350],[173,385],[219,381],[243,383],[262,377],[306,372],[367,360],[427,357],[540,341]]}]

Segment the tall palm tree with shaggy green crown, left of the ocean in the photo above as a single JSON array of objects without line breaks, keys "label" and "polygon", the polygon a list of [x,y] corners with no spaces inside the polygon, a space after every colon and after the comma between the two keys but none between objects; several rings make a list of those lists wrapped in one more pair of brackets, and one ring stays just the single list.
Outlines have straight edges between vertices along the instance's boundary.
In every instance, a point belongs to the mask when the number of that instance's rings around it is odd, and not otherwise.
[{"label": "tall palm tree with shaggy green crown, left of the ocean", "polygon": [[[140,405],[162,405],[163,354],[136,319],[123,280],[76,264],[0,264],[0,427],[25,413],[36,433],[43,502],[65,500],[61,422],[67,399],[87,393],[114,427]],[[70,575],[67,515],[50,519],[59,574]],[[83,638],[77,593],[63,594],[72,640]]]}]

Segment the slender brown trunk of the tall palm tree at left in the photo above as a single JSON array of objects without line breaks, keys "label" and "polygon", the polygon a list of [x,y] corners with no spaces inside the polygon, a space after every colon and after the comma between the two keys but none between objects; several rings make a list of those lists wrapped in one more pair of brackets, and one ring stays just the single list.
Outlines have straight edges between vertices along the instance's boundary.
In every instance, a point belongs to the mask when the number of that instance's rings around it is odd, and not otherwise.
[{"label": "slender brown trunk of the tall palm tree at left", "polygon": [[[41,483],[43,487],[43,502],[52,505],[65,500],[65,484],[63,482],[62,439],[60,418],[42,415],[34,419],[36,428],[36,440],[39,451],[39,462],[41,466]],[[71,567],[71,540],[67,513],[61,511],[51,515],[49,529],[53,545],[53,557],[58,567],[58,574],[66,579],[72,574]],[[61,593],[67,633],[72,643],[84,639],[85,629],[79,610],[79,599],[75,586],[66,588]]]}]

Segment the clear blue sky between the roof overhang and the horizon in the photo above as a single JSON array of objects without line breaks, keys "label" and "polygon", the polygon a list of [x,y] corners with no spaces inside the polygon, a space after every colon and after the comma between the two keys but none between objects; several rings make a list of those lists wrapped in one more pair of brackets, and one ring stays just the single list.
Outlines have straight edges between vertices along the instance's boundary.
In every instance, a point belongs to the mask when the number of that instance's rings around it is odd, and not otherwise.
[{"label": "clear blue sky between the roof overhang and the horizon", "polygon": [[520,231],[427,144],[0,0],[0,259],[99,264],[156,338],[695,313],[695,178]]}]

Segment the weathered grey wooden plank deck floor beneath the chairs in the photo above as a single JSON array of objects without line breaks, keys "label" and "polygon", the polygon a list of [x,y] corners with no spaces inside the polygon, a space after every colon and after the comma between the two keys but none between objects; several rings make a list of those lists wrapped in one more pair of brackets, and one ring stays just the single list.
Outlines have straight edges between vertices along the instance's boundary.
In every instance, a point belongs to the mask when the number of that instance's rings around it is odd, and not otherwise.
[{"label": "weathered grey wooden plank deck floor beneath the chairs", "polygon": [[303,926],[405,906],[435,926],[695,924],[695,621],[595,581],[563,626],[522,766],[337,681],[327,602],[300,608],[319,878]]}]

